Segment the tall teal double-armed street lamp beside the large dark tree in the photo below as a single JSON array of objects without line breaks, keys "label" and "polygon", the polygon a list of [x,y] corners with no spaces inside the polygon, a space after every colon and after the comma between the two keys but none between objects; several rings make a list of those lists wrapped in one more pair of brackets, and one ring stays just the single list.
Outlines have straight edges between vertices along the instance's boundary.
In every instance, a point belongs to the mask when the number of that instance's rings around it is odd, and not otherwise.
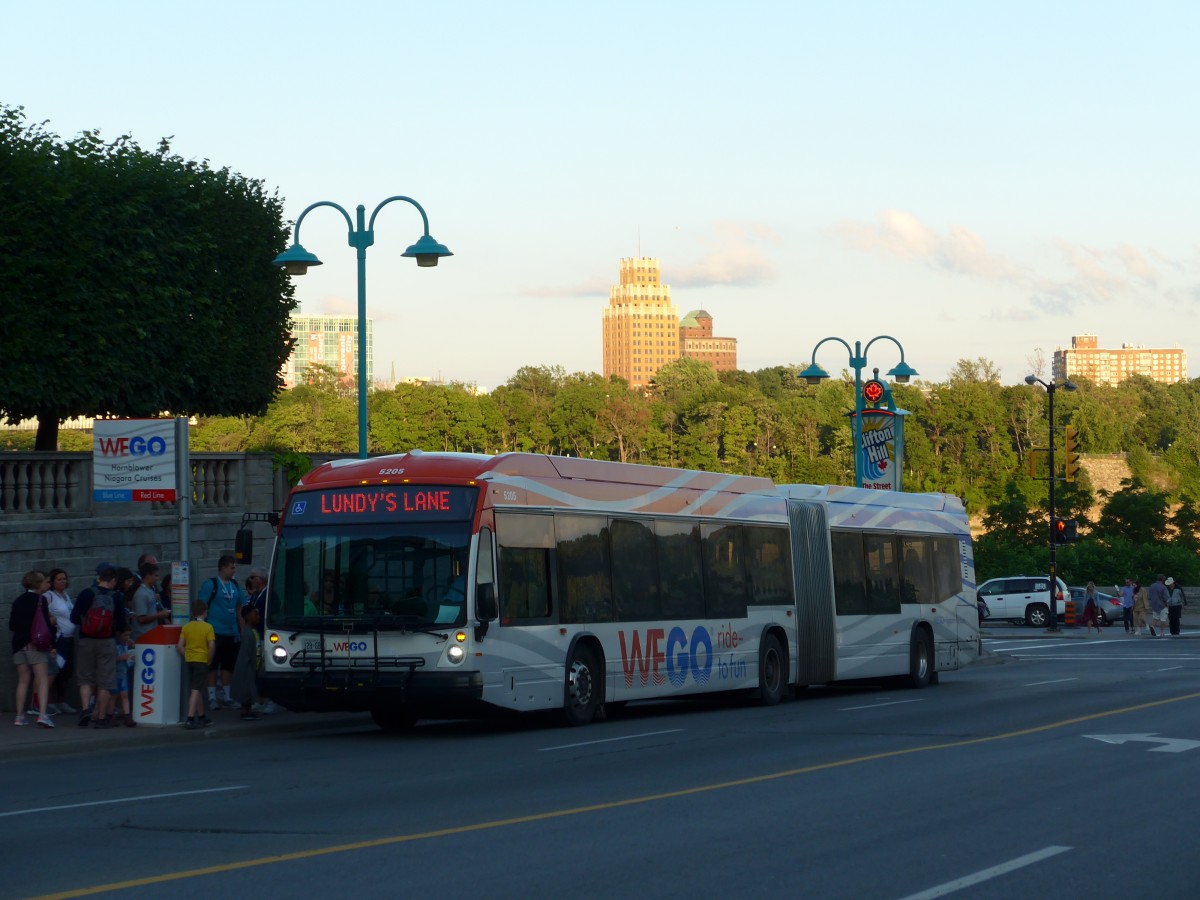
[{"label": "tall teal double-armed street lamp beside the large dark tree", "polygon": [[322,262],[300,246],[300,223],[304,222],[305,216],[307,216],[312,210],[318,206],[332,206],[342,217],[346,218],[347,227],[347,240],[349,245],[358,251],[359,257],[359,458],[365,460],[367,457],[367,247],[374,244],[374,220],[379,215],[379,210],[386,206],[392,200],[404,200],[404,203],[410,203],[416,206],[416,211],[421,214],[421,222],[425,223],[425,234],[422,234],[416,244],[410,246],[403,253],[402,257],[412,257],[416,259],[419,266],[427,268],[437,265],[442,257],[452,257],[449,250],[446,250],[444,244],[438,244],[433,238],[430,236],[430,217],[425,215],[425,210],[421,208],[416,200],[412,197],[389,197],[386,200],[382,200],[374,211],[371,214],[371,221],[366,221],[366,206],[359,204],[358,208],[358,224],[350,221],[350,214],[346,209],[331,200],[318,200],[311,206],[306,208],[304,212],[296,218],[295,228],[292,230],[293,242],[292,246],[286,251],[275,257],[275,264],[282,266],[288,275],[305,275],[308,271],[308,266],[320,265]]}]

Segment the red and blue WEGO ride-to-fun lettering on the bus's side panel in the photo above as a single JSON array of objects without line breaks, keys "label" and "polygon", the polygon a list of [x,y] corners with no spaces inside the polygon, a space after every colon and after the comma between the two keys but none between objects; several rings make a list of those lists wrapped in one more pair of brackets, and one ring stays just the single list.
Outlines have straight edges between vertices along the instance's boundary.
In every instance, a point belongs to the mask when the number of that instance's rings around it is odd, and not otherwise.
[{"label": "red and blue WEGO ride-to-fun lettering on the bus's side panel", "polygon": [[[709,635],[704,625],[692,629],[691,636],[676,625],[670,632],[661,628],[620,631],[620,665],[625,672],[625,686],[634,686],[635,673],[644,688],[670,682],[682,688],[689,677],[696,684],[708,684],[716,668],[718,679],[744,678],[745,662],[721,660],[713,653],[713,641],[720,649],[736,649],[745,638],[732,625],[719,628]],[[665,637],[665,640],[664,640]]]}]

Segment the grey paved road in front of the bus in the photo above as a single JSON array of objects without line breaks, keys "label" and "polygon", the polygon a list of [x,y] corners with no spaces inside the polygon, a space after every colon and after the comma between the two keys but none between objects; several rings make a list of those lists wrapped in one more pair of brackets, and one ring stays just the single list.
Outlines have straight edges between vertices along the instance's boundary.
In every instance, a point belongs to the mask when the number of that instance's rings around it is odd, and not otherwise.
[{"label": "grey paved road in front of the bus", "polygon": [[[989,647],[924,691],[580,730],[283,716],[236,740],[43,746],[0,767],[22,860],[4,894],[1194,895],[1196,863],[1153,834],[1195,827],[1200,641]],[[1124,853],[1138,834],[1150,850]]]}]

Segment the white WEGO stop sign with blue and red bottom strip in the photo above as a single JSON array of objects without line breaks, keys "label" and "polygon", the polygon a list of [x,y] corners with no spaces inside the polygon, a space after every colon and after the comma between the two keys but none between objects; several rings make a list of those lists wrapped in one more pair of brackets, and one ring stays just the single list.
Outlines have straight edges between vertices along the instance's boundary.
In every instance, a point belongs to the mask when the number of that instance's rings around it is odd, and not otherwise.
[{"label": "white WEGO stop sign with blue and red bottom strip", "polygon": [[173,419],[97,419],[91,458],[96,502],[174,502]]}]

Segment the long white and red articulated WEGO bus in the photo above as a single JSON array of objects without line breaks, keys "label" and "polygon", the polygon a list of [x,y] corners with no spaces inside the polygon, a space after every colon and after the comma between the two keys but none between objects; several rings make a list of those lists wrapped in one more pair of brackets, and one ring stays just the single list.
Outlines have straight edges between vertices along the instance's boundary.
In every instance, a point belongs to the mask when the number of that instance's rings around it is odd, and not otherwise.
[{"label": "long white and red articulated WEGO bus", "polygon": [[289,709],[370,710],[388,730],[924,686],[978,656],[974,592],[954,497],[413,450],[326,463],[290,493],[260,683]]}]

